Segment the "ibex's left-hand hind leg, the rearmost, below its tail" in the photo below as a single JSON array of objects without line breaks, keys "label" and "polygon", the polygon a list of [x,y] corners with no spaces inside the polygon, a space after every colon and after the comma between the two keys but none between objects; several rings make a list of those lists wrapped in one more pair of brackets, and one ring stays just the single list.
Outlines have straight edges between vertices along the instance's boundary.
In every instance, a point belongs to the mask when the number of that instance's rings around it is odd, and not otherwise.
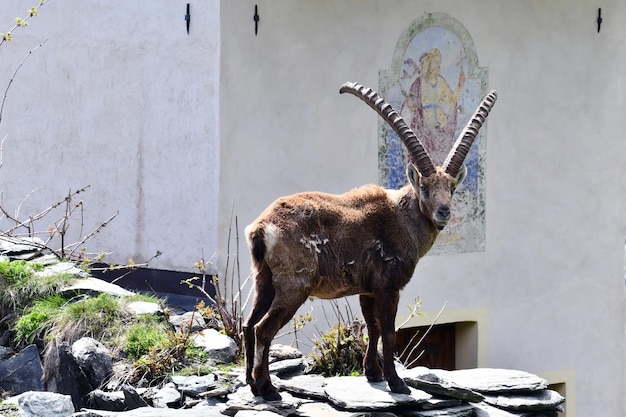
[{"label": "ibex's left-hand hind leg, the rearmost, below its tail", "polygon": [[246,382],[250,385],[254,395],[259,395],[259,392],[254,384],[254,379],[252,378],[252,368],[255,362],[256,351],[254,326],[270,309],[272,301],[274,301],[272,272],[267,265],[265,265],[263,269],[254,277],[254,299],[252,302],[252,311],[243,326],[243,337],[246,352]]}]

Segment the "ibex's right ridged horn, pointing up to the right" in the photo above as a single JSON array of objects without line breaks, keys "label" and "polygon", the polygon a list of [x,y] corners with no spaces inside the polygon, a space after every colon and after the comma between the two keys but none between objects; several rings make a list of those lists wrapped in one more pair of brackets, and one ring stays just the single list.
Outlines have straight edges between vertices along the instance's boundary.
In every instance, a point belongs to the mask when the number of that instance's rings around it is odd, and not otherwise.
[{"label": "ibex's right ridged horn, pointing up to the right", "polygon": [[444,171],[449,175],[456,177],[459,173],[459,170],[463,166],[463,161],[465,161],[465,157],[467,157],[467,153],[478,135],[478,130],[485,122],[497,98],[498,93],[496,90],[491,90],[491,92],[483,98],[480,106],[478,106],[476,112],[454,143],[454,146],[442,166]]}]

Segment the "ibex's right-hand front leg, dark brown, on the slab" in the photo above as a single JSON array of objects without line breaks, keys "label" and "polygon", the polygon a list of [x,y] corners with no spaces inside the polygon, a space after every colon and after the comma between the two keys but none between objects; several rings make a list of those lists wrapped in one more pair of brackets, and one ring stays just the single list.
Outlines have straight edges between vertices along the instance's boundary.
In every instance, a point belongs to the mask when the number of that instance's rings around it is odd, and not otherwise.
[{"label": "ibex's right-hand front leg, dark brown, on the slab", "polygon": [[382,291],[374,300],[374,307],[380,333],[383,339],[383,373],[391,392],[410,394],[411,390],[398,376],[393,362],[393,349],[396,341],[395,319],[400,294],[398,290]]}]

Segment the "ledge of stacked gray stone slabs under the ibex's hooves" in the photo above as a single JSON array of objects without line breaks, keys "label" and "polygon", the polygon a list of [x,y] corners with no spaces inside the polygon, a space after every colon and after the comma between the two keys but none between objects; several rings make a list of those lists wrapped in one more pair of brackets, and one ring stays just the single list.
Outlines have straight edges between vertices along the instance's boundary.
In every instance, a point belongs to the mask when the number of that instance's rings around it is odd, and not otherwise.
[{"label": "ledge of stacked gray stone slabs under the ibex's hooves", "polygon": [[[293,356],[293,349],[273,347],[273,352],[285,350]],[[394,394],[385,382],[370,383],[363,376],[305,374],[305,360],[301,355],[279,357],[272,364],[282,401],[254,397],[240,368],[172,376],[158,388],[96,389],[78,411],[71,395],[53,392],[27,391],[7,401],[16,404],[24,417],[550,417],[563,411],[565,401],[548,389],[546,380],[523,371],[403,369],[399,373],[411,393]]]}]

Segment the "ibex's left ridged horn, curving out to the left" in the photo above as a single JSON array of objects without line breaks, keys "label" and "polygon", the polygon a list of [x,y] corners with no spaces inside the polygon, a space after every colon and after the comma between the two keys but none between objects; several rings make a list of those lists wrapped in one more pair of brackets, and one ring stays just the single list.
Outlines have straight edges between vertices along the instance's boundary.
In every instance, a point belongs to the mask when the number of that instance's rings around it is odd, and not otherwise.
[{"label": "ibex's left ridged horn, curving out to the left", "polygon": [[353,94],[374,109],[398,134],[409,152],[411,161],[415,163],[417,169],[424,177],[428,177],[435,172],[435,166],[422,142],[415,136],[411,128],[407,126],[404,119],[391,107],[391,104],[380,97],[376,91],[357,83],[347,82],[341,86],[339,93]]}]

